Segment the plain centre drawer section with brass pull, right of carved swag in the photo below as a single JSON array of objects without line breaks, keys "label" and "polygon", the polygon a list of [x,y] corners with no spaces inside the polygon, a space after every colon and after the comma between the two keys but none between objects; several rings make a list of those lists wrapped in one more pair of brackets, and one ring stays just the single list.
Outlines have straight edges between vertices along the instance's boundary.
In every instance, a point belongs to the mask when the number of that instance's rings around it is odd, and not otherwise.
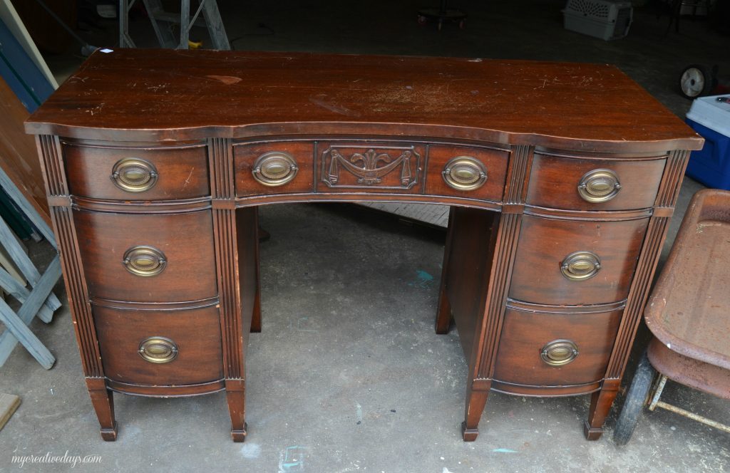
[{"label": "plain centre drawer section with brass pull, right of carved swag", "polygon": [[430,145],[426,193],[502,201],[509,157],[505,150]]}]

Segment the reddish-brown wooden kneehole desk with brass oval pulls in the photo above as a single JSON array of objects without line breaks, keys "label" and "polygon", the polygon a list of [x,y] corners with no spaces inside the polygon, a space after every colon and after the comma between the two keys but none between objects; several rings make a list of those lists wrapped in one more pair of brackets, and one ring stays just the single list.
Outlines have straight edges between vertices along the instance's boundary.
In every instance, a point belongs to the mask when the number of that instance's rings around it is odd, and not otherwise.
[{"label": "reddish-brown wooden kneehole desk with brass oval pulls", "polygon": [[107,440],[112,391],[223,389],[245,439],[257,206],[381,200],[452,206],[464,439],[490,389],[592,393],[597,439],[702,146],[613,66],[306,53],[95,53],[26,130]]}]

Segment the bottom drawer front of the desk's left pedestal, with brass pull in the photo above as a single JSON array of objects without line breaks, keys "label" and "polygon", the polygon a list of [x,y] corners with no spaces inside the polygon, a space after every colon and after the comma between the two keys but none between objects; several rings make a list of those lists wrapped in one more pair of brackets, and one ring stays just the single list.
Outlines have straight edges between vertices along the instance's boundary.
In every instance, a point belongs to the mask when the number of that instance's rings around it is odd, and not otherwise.
[{"label": "bottom drawer front of the desk's left pedestal, with brass pull", "polygon": [[158,311],[95,306],[93,314],[110,380],[185,385],[223,377],[216,307]]}]

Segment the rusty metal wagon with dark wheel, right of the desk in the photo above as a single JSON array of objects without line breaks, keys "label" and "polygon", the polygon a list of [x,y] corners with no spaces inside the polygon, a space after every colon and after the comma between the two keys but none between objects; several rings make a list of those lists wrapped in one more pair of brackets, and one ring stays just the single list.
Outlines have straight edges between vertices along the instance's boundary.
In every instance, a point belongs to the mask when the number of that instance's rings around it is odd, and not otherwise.
[{"label": "rusty metal wagon with dark wheel, right of the desk", "polygon": [[730,192],[695,194],[644,319],[654,337],[626,395],[615,442],[629,442],[646,404],[730,432],[660,401],[667,379],[730,399]]}]

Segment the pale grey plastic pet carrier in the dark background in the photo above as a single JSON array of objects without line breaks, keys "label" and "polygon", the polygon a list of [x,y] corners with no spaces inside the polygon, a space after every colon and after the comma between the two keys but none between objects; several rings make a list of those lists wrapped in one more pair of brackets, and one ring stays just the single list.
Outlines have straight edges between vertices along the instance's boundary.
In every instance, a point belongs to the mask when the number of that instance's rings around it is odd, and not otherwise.
[{"label": "pale grey plastic pet carrier in the dark background", "polygon": [[568,0],[563,10],[565,29],[605,40],[629,34],[633,17],[631,1]]}]

